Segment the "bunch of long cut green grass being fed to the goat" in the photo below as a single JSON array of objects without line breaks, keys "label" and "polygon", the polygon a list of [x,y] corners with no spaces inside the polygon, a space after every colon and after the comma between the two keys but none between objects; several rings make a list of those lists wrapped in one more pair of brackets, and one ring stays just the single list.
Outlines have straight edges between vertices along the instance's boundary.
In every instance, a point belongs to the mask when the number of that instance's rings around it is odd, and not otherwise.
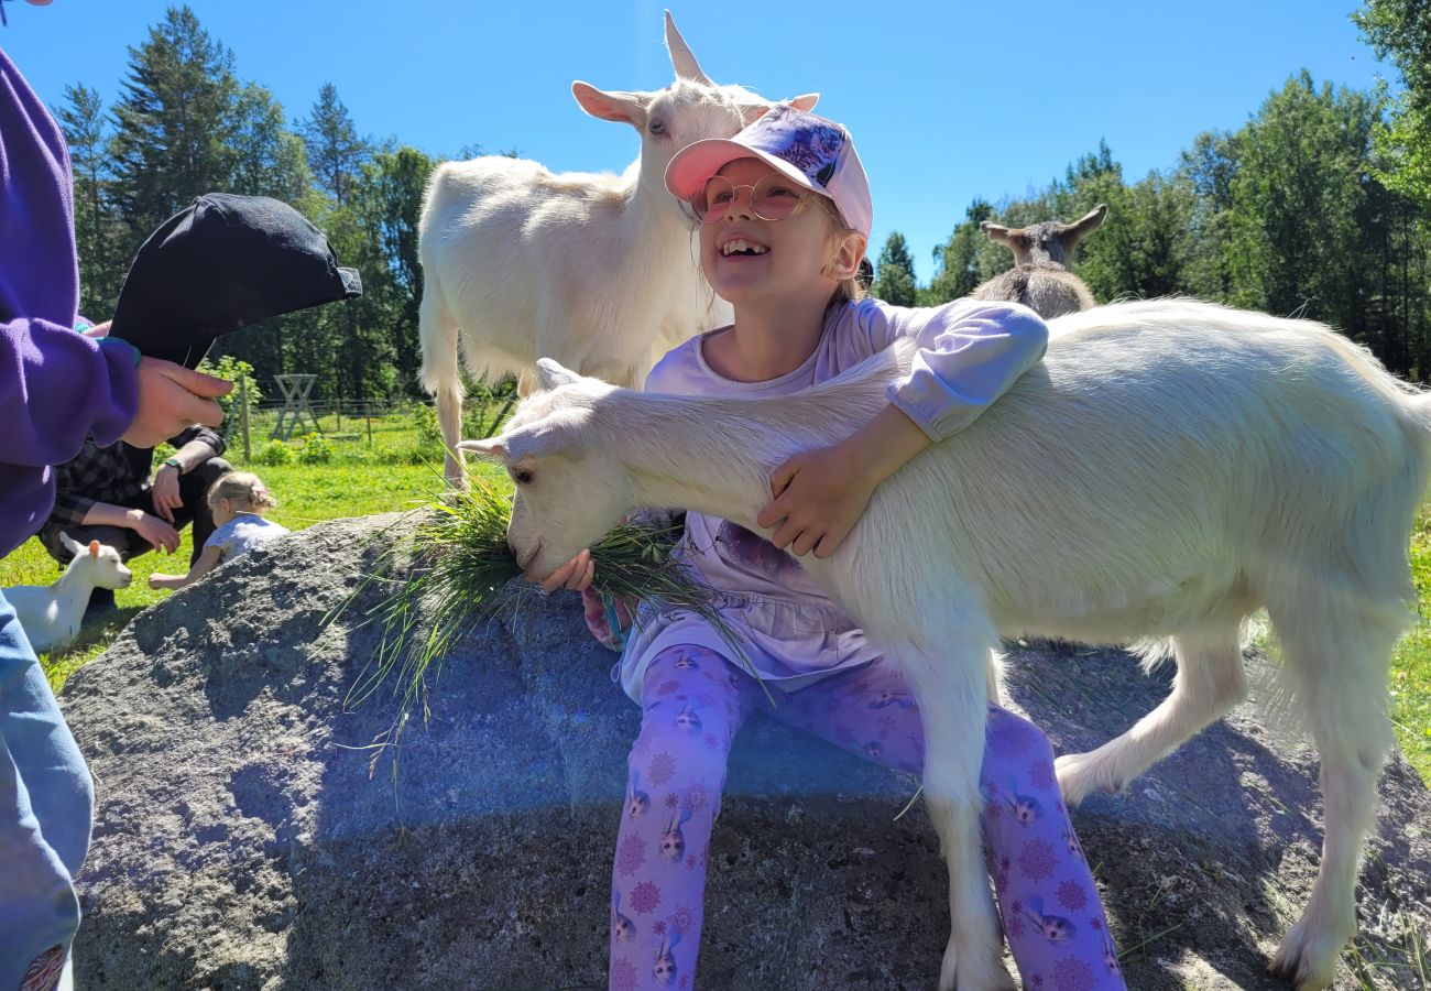
[{"label": "bunch of long cut green grass being fed to the goat", "polygon": [[[348,695],[355,705],[392,685],[399,705],[388,742],[396,742],[415,707],[426,717],[428,676],[441,673],[459,639],[492,620],[519,620],[531,596],[541,594],[519,580],[521,569],[507,546],[511,498],[505,487],[469,474],[467,491],[445,493],[421,513],[411,536],[391,547],[375,573],[329,616],[332,620],[348,610],[372,583],[389,589],[359,622],[381,623],[382,634]],[[622,523],[591,547],[592,589],[633,607],[650,603],[665,611],[695,613],[744,660],[734,632],[717,611],[720,593],[673,559],[680,533],[680,526]]]}]

